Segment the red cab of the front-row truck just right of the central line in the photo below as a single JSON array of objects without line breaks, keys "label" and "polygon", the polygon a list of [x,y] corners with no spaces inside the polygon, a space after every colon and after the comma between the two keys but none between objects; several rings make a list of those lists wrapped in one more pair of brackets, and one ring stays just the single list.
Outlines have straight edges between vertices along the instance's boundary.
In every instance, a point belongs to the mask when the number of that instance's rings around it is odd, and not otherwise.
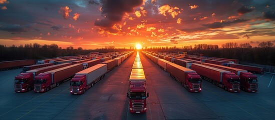
[{"label": "red cab of the front-row truck just right of the central line", "polygon": [[196,72],[186,72],[185,73],[185,83],[182,85],[190,92],[200,92],[201,91],[201,78]]}]

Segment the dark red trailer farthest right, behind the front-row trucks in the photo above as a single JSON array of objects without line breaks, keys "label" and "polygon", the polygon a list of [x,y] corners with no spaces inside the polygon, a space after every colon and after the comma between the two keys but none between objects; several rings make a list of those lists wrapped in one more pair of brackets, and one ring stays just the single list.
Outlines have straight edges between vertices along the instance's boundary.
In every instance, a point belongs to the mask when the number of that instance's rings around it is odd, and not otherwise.
[{"label": "dark red trailer farthest right, behind the front-row trucks", "polygon": [[244,65],[244,64],[236,64],[236,63],[230,63],[230,67],[234,68],[240,68],[240,69],[245,69],[250,72],[256,72],[256,73],[264,73],[264,68],[259,67],[259,66],[251,66],[251,65]]}]

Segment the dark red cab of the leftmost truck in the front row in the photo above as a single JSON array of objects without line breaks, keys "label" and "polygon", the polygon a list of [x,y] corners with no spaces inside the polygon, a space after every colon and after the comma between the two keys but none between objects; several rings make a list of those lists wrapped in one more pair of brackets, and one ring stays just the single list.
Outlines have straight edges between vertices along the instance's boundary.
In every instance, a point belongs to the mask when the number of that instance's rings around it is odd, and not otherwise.
[{"label": "dark red cab of the leftmost truck in the front row", "polygon": [[33,73],[20,73],[15,77],[15,92],[31,91],[34,88]]}]

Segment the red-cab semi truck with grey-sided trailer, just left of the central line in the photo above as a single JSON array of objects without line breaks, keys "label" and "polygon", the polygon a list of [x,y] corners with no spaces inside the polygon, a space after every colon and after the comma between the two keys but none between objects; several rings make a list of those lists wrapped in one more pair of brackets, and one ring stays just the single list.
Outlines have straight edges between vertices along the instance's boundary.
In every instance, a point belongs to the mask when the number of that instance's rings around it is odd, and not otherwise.
[{"label": "red-cab semi truck with grey-sided trailer, just left of the central line", "polygon": [[107,72],[107,64],[96,64],[76,73],[71,79],[71,94],[83,94]]}]

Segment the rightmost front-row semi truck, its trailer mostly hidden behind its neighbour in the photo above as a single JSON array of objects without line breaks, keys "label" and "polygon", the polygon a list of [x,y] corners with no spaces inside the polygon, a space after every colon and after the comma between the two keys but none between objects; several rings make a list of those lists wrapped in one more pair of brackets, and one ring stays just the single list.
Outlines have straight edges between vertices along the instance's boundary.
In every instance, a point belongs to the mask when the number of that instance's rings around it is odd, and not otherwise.
[{"label": "rightmost front-row semi truck, its trailer mostly hidden behind its neighbour", "polygon": [[229,67],[229,66],[223,66],[223,65],[217,65],[217,64],[211,64],[211,63],[202,63],[203,65],[227,70],[230,72],[233,72],[240,77],[240,88],[244,91],[248,92],[257,92],[257,76],[253,75],[251,72],[247,72],[247,70]]}]

